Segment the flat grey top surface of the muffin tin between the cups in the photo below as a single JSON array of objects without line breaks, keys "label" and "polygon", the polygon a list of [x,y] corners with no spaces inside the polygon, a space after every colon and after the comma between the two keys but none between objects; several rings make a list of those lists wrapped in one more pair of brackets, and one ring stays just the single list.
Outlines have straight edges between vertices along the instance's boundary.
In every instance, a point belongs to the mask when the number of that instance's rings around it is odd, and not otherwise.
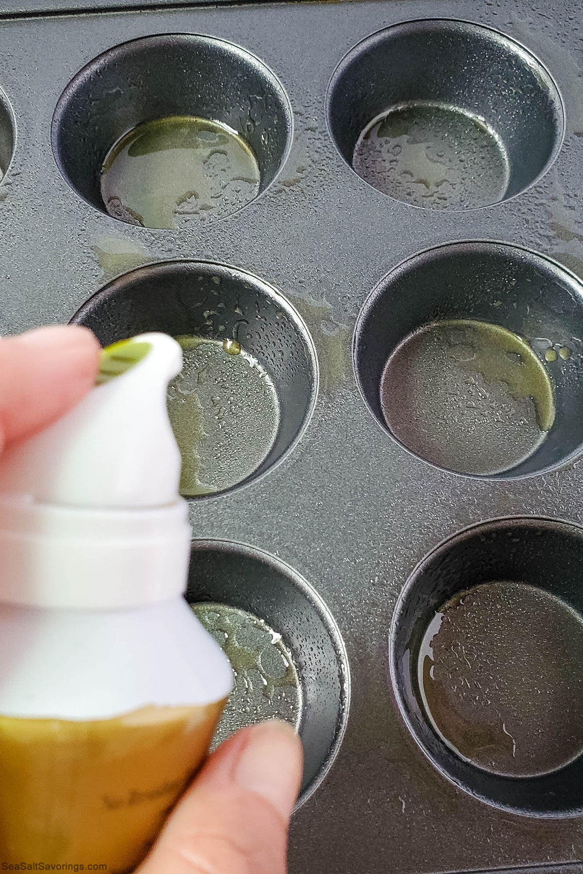
[{"label": "flat grey top surface of the muffin tin between the cups", "polygon": [[[489,3],[492,3],[491,5]],[[472,19],[523,42],[557,81],[566,139],[537,184],[501,205],[420,210],[356,176],[326,128],[330,78],[379,28]],[[359,309],[420,250],[497,239],[583,269],[583,70],[579,0],[394,0],[37,17],[0,25],[0,87],[17,143],[0,188],[2,329],[67,321],[106,281],[153,260],[231,264],[288,297],[316,343],[321,387],[302,440],[245,489],[191,504],[196,538],[264,549],[314,586],[343,635],[352,677],[337,760],[295,815],[292,874],[396,874],[555,866],[583,856],[580,819],[541,821],[485,805],[426,759],[399,718],[388,672],[396,598],[442,538],[491,517],[583,523],[581,462],[518,481],[450,475],[406,453],[371,417],[351,368]],[[199,231],[124,225],[87,205],[54,162],[51,122],[69,80],[101,52],[151,33],[205,33],[256,54],[285,87],[295,135],[260,198]],[[554,870],[558,870],[555,868]],[[577,870],[577,869],[567,869]]]}]

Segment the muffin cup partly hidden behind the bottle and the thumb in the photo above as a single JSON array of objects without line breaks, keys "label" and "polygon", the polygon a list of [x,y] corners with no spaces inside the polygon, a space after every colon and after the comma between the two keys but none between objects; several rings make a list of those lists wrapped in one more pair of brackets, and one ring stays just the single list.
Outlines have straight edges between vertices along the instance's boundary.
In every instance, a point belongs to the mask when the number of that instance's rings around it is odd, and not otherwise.
[{"label": "muffin cup partly hidden behind the bottle and the thumb", "polygon": [[279,559],[221,540],[192,542],[185,598],[236,675],[216,739],[264,718],[295,725],[304,753],[301,804],[336,758],[350,704],[344,643],[328,608]]}]

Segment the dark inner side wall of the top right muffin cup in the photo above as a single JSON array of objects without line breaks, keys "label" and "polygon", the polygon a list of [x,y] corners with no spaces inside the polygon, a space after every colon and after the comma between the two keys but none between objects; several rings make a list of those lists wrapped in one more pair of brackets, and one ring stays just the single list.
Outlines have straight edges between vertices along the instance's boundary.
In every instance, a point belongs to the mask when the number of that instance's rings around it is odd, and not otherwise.
[{"label": "dark inner side wall of the top right muffin cup", "polygon": [[[524,191],[545,170],[563,134],[563,108],[545,68],[475,24],[416,21],[376,33],[342,60],[328,97],[330,131],[349,164],[360,132],[390,109],[455,107],[487,121],[510,170],[503,199]],[[487,175],[487,166],[480,170]],[[462,170],[453,176],[458,188],[463,176]],[[497,199],[483,198],[479,205]]]}]

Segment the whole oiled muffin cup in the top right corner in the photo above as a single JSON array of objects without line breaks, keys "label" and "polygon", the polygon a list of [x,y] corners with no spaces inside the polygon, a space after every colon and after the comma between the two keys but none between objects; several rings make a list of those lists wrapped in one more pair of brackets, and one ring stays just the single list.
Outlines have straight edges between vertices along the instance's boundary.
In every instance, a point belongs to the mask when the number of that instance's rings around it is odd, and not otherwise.
[{"label": "whole oiled muffin cup in the top right corner", "polygon": [[551,74],[502,33],[464,21],[396,24],[356,45],[328,91],[344,160],[392,198],[463,210],[524,191],[557,155]]}]

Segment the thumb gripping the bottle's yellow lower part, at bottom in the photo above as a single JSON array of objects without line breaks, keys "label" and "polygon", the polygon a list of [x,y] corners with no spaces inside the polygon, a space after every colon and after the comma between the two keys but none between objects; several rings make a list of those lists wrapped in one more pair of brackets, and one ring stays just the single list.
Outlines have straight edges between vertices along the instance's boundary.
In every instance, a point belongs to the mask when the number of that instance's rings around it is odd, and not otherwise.
[{"label": "thumb gripping the bottle's yellow lower part, at bottom", "polygon": [[302,744],[282,722],[212,753],[136,874],[285,874]]}]

